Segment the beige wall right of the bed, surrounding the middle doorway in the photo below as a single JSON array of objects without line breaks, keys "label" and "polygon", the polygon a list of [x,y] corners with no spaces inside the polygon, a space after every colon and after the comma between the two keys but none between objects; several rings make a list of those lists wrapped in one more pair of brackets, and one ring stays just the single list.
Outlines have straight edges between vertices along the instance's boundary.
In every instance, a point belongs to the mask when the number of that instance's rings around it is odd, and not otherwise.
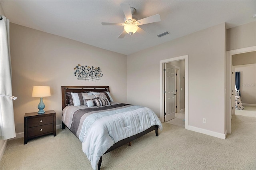
[{"label": "beige wall right of the bed, surrounding the middle doorway", "polygon": [[223,23],[128,55],[127,102],[150,107],[160,117],[160,60],[189,55],[188,124],[224,134],[225,31]]}]

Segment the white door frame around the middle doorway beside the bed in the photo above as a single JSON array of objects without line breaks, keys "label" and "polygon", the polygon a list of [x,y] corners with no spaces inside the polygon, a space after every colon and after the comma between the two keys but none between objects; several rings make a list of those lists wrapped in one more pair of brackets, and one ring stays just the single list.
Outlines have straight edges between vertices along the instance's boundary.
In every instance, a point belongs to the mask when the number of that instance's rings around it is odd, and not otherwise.
[{"label": "white door frame around the middle doorway beside the bed", "polygon": [[188,129],[188,55],[160,60],[160,121],[164,122],[164,63],[185,60],[185,128]]}]

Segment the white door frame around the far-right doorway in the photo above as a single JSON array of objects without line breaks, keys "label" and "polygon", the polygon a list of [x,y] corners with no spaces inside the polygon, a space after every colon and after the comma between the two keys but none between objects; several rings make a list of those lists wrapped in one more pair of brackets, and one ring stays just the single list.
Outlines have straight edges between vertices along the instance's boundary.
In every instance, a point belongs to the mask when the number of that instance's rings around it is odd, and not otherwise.
[{"label": "white door frame around the far-right doorway", "polygon": [[226,52],[226,133],[231,134],[231,107],[232,107],[232,55],[256,51],[256,46],[234,49]]}]

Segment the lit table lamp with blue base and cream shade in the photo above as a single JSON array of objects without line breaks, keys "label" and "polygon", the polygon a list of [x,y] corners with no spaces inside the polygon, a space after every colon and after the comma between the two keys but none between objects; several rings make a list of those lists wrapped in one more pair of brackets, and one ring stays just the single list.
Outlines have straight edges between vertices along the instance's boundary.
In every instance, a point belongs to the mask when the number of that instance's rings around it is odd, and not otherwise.
[{"label": "lit table lamp with blue base and cream shade", "polygon": [[44,114],[44,102],[43,97],[51,96],[50,86],[34,86],[32,91],[32,97],[40,97],[40,103],[38,104],[38,114]]}]

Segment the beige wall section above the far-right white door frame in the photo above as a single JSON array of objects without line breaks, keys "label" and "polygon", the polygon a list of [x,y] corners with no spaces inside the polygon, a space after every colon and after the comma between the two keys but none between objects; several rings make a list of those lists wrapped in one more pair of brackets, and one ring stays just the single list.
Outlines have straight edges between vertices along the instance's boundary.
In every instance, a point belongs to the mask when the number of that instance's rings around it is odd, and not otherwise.
[{"label": "beige wall section above the far-right white door frame", "polygon": [[256,21],[227,30],[227,51],[256,45]]}]

